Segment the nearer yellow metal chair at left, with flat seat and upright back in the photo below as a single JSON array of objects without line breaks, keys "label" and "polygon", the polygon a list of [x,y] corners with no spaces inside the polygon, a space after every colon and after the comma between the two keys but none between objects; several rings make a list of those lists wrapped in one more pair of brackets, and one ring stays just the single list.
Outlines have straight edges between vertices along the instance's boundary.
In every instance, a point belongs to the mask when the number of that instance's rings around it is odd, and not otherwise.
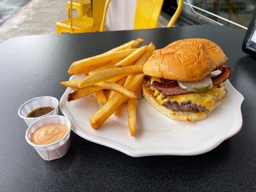
[{"label": "nearer yellow metal chair at left, with flat seat and upright back", "polygon": [[73,18],[73,0],[71,2],[70,19],[58,22],[56,24],[57,34],[61,33],[86,33],[96,32],[100,29],[103,16],[103,10],[106,0],[93,0],[93,18],[80,16]]}]

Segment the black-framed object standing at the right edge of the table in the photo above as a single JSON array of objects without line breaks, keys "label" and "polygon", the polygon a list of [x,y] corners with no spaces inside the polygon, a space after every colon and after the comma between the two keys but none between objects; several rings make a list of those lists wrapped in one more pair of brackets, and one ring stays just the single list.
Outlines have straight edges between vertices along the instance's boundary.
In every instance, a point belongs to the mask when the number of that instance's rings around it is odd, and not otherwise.
[{"label": "black-framed object standing at the right edge of the table", "polygon": [[245,53],[256,57],[256,8],[245,33],[242,49]]}]

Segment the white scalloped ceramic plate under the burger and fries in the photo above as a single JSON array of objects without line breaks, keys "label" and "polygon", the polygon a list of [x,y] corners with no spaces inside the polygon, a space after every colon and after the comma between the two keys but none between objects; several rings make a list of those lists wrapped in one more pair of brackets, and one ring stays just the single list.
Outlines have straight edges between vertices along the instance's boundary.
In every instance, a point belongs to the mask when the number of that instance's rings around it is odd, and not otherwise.
[{"label": "white scalloped ceramic plate under the burger and fries", "polygon": [[[85,78],[84,74],[73,75],[70,80],[81,78]],[[89,122],[90,116],[101,107],[94,95],[67,102],[67,96],[72,92],[67,88],[61,97],[60,108],[73,124],[73,132],[129,156],[198,155],[214,149],[242,127],[241,104],[244,97],[229,81],[225,82],[225,87],[228,98],[207,119],[195,122],[172,120],[145,99],[140,100],[134,137],[130,136],[127,128],[125,105],[122,106],[121,117],[112,115],[97,131]]]}]

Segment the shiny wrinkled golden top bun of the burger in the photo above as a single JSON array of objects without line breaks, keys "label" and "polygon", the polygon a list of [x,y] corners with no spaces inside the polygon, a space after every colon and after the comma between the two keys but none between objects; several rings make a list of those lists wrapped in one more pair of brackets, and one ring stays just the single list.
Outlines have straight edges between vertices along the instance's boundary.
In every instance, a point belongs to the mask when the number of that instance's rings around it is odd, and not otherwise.
[{"label": "shiny wrinkled golden top bun of the burger", "polygon": [[175,81],[199,81],[227,60],[208,39],[175,41],[154,53],[144,64],[146,75]]}]

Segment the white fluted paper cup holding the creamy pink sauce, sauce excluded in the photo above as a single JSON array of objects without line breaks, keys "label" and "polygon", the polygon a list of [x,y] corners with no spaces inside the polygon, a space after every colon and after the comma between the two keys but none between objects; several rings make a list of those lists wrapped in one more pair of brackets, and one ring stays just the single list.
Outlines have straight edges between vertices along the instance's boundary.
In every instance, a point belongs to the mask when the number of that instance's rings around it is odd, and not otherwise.
[{"label": "white fluted paper cup holding the creamy pink sauce, sauce excluded", "polygon": [[[64,135],[64,137],[52,144],[34,144],[31,142],[30,138],[33,132],[35,132],[38,128],[44,126],[44,125],[50,125],[50,124],[61,124],[66,125],[68,127],[68,132]],[[72,125],[71,122],[60,115],[51,115],[44,117],[40,120],[35,121],[32,123],[27,131],[26,131],[26,141],[28,144],[32,145],[36,150],[37,153],[47,161],[54,160],[61,158],[64,156],[70,147],[70,131],[71,131]]]}]

